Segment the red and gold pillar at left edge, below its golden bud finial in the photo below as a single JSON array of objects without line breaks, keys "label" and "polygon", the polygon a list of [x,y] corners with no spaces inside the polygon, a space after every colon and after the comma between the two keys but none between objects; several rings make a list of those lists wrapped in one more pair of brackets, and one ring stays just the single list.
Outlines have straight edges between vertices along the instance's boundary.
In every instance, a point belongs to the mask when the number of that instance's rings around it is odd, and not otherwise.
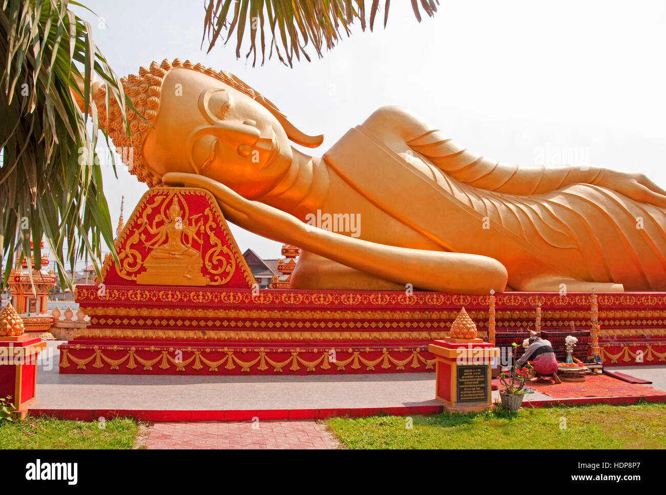
[{"label": "red and gold pillar at left edge, below its golden bud finial", "polygon": [[45,348],[32,336],[0,337],[0,397],[9,396],[22,415],[35,400],[37,355]]}]

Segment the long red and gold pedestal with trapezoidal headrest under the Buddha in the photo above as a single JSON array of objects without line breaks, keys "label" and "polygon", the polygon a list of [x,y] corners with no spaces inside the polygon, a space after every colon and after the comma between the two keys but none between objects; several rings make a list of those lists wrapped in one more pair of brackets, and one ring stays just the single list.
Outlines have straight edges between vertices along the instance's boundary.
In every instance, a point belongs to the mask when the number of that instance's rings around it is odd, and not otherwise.
[{"label": "long red and gold pedestal with trapezoidal headrest under the Buddha", "polygon": [[[590,294],[581,293],[507,292],[489,298],[402,290],[259,290],[216,200],[203,189],[147,191],[115,249],[118,265],[107,256],[101,279],[77,286],[76,300],[90,322],[61,345],[63,373],[430,372],[434,356],[428,344],[450,336],[462,306],[480,338],[489,330],[494,336],[496,330],[531,327],[537,308],[544,330],[567,330],[572,322],[587,329],[591,323]],[[666,293],[598,294],[597,310],[602,345],[604,332],[666,336]],[[450,368],[449,382],[464,371],[452,367],[453,345],[432,346],[441,354],[440,375]],[[470,358],[477,348],[490,348],[489,360],[498,355],[481,340],[470,345]],[[645,360],[652,363],[659,352],[645,354]],[[485,361],[470,366],[477,364],[486,366]],[[487,381],[490,394],[490,377]],[[452,407],[460,402],[462,410],[474,408],[468,398],[454,400],[455,393],[438,395]],[[490,395],[479,401],[485,407]]]}]

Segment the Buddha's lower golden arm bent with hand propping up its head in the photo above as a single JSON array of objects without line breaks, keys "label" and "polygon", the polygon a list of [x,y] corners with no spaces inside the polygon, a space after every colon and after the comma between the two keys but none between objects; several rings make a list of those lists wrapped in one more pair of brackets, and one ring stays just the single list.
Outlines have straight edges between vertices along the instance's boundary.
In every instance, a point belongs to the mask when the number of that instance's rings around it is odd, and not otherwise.
[{"label": "Buddha's lower golden arm bent with hand propping up its head", "polygon": [[506,269],[488,256],[400,248],[324,231],[264,203],[248,201],[200,175],[168,173],[163,182],[207,189],[218,200],[226,219],[239,227],[392,282],[470,294],[491,288],[501,292],[506,285]]}]

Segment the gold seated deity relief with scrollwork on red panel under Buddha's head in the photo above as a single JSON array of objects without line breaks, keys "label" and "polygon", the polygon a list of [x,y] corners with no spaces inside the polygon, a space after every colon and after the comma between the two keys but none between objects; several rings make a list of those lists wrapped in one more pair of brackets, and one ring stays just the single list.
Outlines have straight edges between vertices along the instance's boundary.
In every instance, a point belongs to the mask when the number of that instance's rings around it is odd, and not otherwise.
[{"label": "gold seated deity relief with scrollwork on red panel under Buddha's head", "polygon": [[228,282],[236,270],[236,260],[216,235],[222,225],[215,212],[207,207],[203,213],[190,214],[191,197],[176,190],[160,193],[145,202],[133,232],[122,243],[119,275],[147,285]]}]

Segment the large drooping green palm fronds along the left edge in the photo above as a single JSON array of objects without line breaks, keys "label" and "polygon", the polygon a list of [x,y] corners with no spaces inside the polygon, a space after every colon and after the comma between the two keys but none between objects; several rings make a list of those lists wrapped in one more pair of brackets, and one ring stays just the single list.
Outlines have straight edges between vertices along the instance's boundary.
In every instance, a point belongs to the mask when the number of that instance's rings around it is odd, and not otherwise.
[{"label": "large drooping green palm fronds along the left edge", "polygon": [[[30,252],[31,237],[35,268],[44,236],[59,272],[65,259],[74,271],[75,260],[84,256],[99,272],[101,241],[113,250],[113,229],[95,153],[90,81],[97,75],[108,83],[109,97],[121,102],[124,113],[120,80],[95,45],[89,23],[67,1],[0,2],[0,244],[9,260],[4,280],[16,253]],[[81,89],[77,81],[85,81]],[[86,102],[83,111],[73,92]]]}]

